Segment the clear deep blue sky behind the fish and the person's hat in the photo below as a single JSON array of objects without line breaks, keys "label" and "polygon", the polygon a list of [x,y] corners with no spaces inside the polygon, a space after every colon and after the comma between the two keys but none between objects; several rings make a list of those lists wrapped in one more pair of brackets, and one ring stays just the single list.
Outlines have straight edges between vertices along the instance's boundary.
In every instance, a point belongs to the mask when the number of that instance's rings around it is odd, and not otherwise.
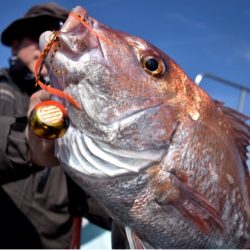
[{"label": "clear deep blue sky behind the fish and the person's hat", "polygon": [[[0,8],[0,31],[37,0],[12,0]],[[43,1],[49,2],[49,1]],[[250,87],[249,0],[55,0],[71,9],[77,5],[103,23],[142,37],[172,57],[194,79],[210,72]],[[0,66],[8,65],[10,50],[0,46]],[[237,107],[239,91],[204,80],[212,96]],[[250,115],[250,95],[244,112]]]}]

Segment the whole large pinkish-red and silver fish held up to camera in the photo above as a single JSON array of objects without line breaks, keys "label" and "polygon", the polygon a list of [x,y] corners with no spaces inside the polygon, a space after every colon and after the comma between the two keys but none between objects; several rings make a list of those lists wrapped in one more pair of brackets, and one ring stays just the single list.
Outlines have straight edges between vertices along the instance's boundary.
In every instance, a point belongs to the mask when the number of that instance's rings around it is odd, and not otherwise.
[{"label": "whole large pinkish-red and silver fish held up to camera", "polygon": [[[44,48],[51,38],[40,38]],[[71,126],[56,151],[131,248],[239,248],[250,239],[248,119],[165,53],[76,7],[47,51]]]}]

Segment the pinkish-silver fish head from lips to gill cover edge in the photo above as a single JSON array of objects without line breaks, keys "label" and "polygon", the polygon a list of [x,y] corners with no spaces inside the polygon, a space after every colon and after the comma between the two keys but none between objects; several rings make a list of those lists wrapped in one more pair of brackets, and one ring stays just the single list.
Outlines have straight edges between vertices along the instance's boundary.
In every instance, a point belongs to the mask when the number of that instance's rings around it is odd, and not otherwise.
[{"label": "pinkish-silver fish head from lips to gill cover edge", "polygon": [[[50,36],[41,36],[41,47]],[[81,107],[68,107],[71,124],[122,148],[166,147],[186,108],[194,106],[186,89],[197,88],[182,69],[149,42],[101,24],[82,7],[72,11],[58,38],[46,65],[52,86]]]}]

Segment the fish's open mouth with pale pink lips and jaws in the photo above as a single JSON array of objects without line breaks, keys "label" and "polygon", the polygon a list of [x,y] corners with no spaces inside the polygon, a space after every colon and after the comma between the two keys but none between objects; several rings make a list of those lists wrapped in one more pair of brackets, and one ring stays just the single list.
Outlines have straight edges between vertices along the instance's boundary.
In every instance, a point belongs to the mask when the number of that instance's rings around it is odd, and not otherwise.
[{"label": "fish's open mouth with pale pink lips and jaws", "polygon": [[[96,33],[98,26],[99,22],[89,17],[88,12],[82,7],[77,6],[70,12],[60,31],[57,32],[58,46],[51,46],[44,58],[48,72],[52,76],[52,84],[55,84],[56,88],[63,90],[67,82],[77,84],[72,76],[74,70],[79,67],[77,63],[74,64],[79,58],[82,62],[90,58],[98,60],[103,58],[101,41]],[[53,33],[46,31],[41,34],[40,50],[46,50]],[[62,79],[65,80],[64,85],[60,84]]]}]

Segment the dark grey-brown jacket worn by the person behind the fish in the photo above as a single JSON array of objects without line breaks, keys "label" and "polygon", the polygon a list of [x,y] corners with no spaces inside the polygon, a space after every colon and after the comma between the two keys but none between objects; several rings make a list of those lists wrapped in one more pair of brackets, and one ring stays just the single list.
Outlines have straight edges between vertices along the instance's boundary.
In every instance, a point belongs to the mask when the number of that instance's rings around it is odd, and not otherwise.
[{"label": "dark grey-brown jacket worn by the person behind the fish", "polygon": [[33,75],[19,61],[0,71],[0,248],[65,249],[72,215],[104,228],[111,228],[111,219],[60,167],[29,161],[24,129],[34,86]]}]

